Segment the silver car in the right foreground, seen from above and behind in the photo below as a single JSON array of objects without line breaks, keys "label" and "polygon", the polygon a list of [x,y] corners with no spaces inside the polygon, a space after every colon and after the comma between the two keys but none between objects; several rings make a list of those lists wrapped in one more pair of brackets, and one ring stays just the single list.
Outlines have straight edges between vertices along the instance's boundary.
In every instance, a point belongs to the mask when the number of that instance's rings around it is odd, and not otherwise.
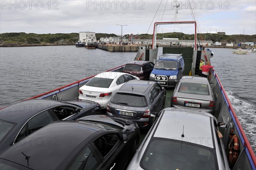
[{"label": "silver car in the right foreground, seen from above and behind", "polygon": [[222,134],[208,112],[165,108],[128,165],[128,170],[230,170]]}]

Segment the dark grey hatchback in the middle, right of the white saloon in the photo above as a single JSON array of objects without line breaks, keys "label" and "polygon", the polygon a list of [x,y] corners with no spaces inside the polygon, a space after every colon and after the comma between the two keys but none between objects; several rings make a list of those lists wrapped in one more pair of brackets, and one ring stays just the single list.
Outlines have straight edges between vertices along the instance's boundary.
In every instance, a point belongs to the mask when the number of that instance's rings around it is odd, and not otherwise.
[{"label": "dark grey hatchback in the middle, right of the white saloon", "polygon": [[106,114],[135,121],[149,129],[165,103],[166,90],[154,81],[128,81],[107,106]]}]

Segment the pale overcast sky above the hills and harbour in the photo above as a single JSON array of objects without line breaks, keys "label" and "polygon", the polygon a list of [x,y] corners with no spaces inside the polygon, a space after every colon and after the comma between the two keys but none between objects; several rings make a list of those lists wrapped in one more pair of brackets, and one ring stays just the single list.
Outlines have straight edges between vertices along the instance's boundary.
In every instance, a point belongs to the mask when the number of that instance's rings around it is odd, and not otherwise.
[{"label": "pale overcast sky above the hills and harbour", "polygon": [[[174,21],[175,0],[0,0],[0,33],[96,32],[152,34],[151,22]],[[178,21],[192,20],[200,33],[256,34],[256,0],[177,0]],[[158,9],[158,10],[157,10]],[[128,25],[128,26],[119,26]],[[162,25],[158,33],[193,34],[192,25]]]}]

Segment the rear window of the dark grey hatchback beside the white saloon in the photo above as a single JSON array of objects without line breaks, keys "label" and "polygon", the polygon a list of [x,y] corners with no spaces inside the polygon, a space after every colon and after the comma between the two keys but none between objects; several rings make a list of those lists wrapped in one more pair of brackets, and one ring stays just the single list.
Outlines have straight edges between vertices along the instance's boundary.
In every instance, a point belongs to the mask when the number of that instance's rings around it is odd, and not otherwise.
[{"label": "rear window of the dark grey hatchback beside the white saloon", "polygon": [[130,93],[122,93],[122,92],[116,93],[116,95],[112,99],[111,103],[125,105],[125,106],[131,106],[131,107],[146,107],[147,106],[145,96],[130,94]]}]

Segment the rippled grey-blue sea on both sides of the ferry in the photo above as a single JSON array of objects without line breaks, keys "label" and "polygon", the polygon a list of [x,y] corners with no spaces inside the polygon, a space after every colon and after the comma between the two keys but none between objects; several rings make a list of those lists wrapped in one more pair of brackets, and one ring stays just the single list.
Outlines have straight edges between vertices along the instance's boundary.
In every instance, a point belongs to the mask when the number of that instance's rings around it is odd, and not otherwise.
[{"label": "rippled grey-blue sea on both sides of the ferry", "polygon": [[[256,153],[256,53],[210,48],[218,74]],[[158,54],[162,54],[159,48]],[[0,107],[131,62],[136,52],[75,46],[0,48]]]}]

